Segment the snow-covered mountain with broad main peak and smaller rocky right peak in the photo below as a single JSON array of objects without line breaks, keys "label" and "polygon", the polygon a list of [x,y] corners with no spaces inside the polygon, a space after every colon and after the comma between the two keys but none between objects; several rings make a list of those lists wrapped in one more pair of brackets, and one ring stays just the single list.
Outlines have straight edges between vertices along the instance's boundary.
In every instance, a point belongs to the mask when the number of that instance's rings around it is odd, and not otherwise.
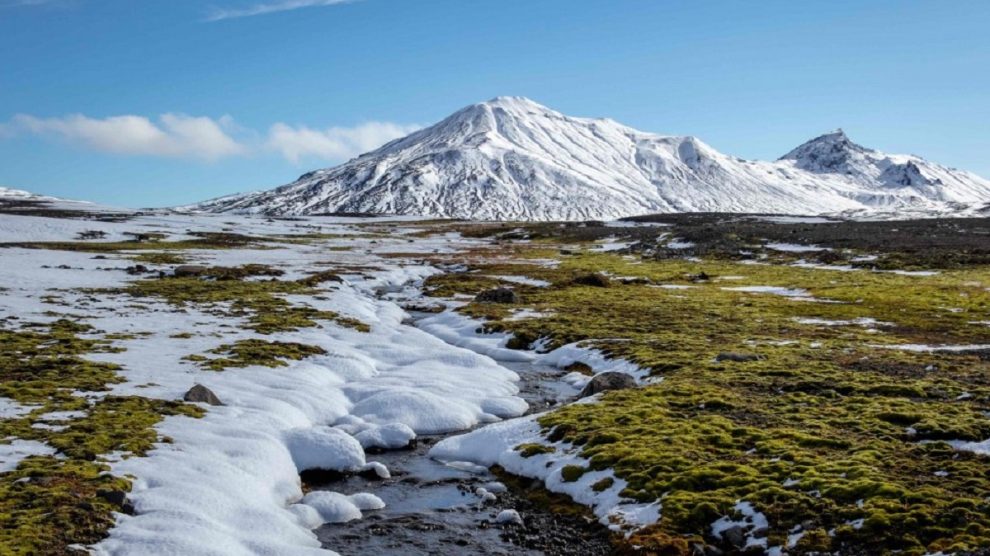
[{"label": "snow-covered mountain with broad main peak and smaller rocky right peak", "polygon": [[183,208],[578,220],[697,211],[951,213],[988,201],[986,179],[867,149],[842,131],[775,162],[749,161],[695,137],[499,97],[283,187]]}]

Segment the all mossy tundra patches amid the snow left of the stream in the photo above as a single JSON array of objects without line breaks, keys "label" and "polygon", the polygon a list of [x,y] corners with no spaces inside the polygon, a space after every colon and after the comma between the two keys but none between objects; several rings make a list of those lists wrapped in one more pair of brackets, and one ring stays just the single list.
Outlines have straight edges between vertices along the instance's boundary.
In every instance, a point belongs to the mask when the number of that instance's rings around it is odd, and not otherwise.
[{"label": "all mossy tundra patches amid the snow left of the stream", "polygon": [[[187,262],[185,253],[193,249],[264,249],[266,243],[318,239],[204,233],[186,241],[154,237],[4,246],[84,251],[100,258],[111,255],[117,260],[175,265]],[[28,456],[16,468],[0,473],[0,553],[85,553],[85,545],[106,536],[115,512],[133,510],[127,500],[130,479],[109,473],[108,463],[142,456],[156,443],[171,442],[155,430],[164,417],[198,418],[205,411],[181,401],[109,394],[113,385],[124,381],[120,367],[88,356],[124,351],[121,341],[148,333],[106,333],[82,322],[86,316],[79,309],[90,302],[143,299],[164,302],[176,311],[194,307],[241,318],[245,329],[261,335],[315,327],[324,321],[367,330],[357,320],[285,298],[316,296],[328,283],[339,280],[335,274],[316,272],[298,280],[280,280],[281,275],[280,270],[261,264],[204,267],[184,276],[163,270],[161,276],[138,279],[122,288],[71,292],[86,299],[73,307],[73,313],[64,312],[68,302],[63,295],[70,292],[51,292],[42,298],[54,307],[47,313],[51,322],[0,320],[0,398],[27,408],[26,413],[0,419],[0,442],[37,441],[52,452]],[[194,336],[184,332],[171,338]],[[279,367],[285,359],[320,353],[323,350],[318,346],[255,338],[224,344],[207,354],[191,354],[188,359],[220,371],[249,365]]]}]

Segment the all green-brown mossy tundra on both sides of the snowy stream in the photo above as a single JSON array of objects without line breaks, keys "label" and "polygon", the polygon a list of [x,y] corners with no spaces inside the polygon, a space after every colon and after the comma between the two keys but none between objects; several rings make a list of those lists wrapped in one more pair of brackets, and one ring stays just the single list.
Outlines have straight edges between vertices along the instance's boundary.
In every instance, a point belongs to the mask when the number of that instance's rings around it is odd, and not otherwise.
[{"label": "all green-brown mossy tundra on both sides of the snowy stream", "polygon": [[[663,225],[420,223],[428,229],[411,240],[458,231],[490,243],[456,253],[382,256],[444,265],[448,272],[423,284],[438,298],[466,301],[512,288],[513,303],[472,301],[458,309],[481,319],[485,330],[509,333],[510,347],[583,342],[663,377],[549,412],[540,419],[543,441],[517,447],[523,457],[552,457],[563,443],[586,460],[566,466],[565,481],[611,469],[614,478],[595,482],[593,490],[622,480],[625,499],[662,502],[656,524],[615,538],[620,551],[739,551],[712,534],[715,521],[738,517],[739,501],[767,518],[767,530],[752,533],[767,546],[786,546],[788,554],[990,549],[990,458],[950,444],[990,438],[990,351],[978,347],[990,343],[986,221],[651,220]],[[193,250],[326,239],[315,232],[216,233],[181,241],[8,246],[160,267],[161,276],[153,269],[123,287],[74,293],[237,319],[257,337],[187,360],[213,371],[264,365],[279,372],[286,360],[323,351],[272,335],[324,322],[367,330],[298,302],[335,287],[333,271],[286,279],[262,264],[183,276],[168,267],[195,260]],[[800,249],[773,249],[771,242]],[[129,511],[130,480],[108,473],[109,459],[168,442],[154,428],[165,416],[194,419],[205,411],[109,394],[123,381],[121,369],[92,356],[124,349],[122,340],[138,334],[85,324],[75,314],[85,305],[65,313],[64,293],[46,297],[49,322],[0,321],[0,396],[30,408],[0,420],[0,442],[36,440],[54,451],[0,473],[0,547],[14,554],[64,554],[104,537],[113,512]],[[515,318],[521,310],[525,316]],[[909,351],[906,345],[976,347]],[[726,353],[754,357],[719,357]],[[533,495],[569,508],[557,496]]]}]

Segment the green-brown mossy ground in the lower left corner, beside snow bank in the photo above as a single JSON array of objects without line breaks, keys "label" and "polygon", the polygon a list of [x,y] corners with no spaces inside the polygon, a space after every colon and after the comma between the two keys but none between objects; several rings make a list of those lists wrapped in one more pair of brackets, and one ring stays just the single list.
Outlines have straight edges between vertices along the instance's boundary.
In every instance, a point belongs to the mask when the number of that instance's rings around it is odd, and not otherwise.
[{"label": "green-brown mossy ground in the lower left corner, beside snow bank", "polygon": [[[202,415],[199,407],[137,396],[102,396],[122,379],[118,368],[85,358],[114,351],[92,327],[58,320],[0,329],[0,395],[33,409],[0,420],[0,442],[44,442],[54,456],[31,456],[0,473],[0,554],[67,554],[100,540],[121,511],[130,482],[102,463],[111,453],[143,455],[165,441],[154,430],[167,415]],[[72,412],[57,421],[52,412]],[[80,551],[81,552],[81,551]]]}]

